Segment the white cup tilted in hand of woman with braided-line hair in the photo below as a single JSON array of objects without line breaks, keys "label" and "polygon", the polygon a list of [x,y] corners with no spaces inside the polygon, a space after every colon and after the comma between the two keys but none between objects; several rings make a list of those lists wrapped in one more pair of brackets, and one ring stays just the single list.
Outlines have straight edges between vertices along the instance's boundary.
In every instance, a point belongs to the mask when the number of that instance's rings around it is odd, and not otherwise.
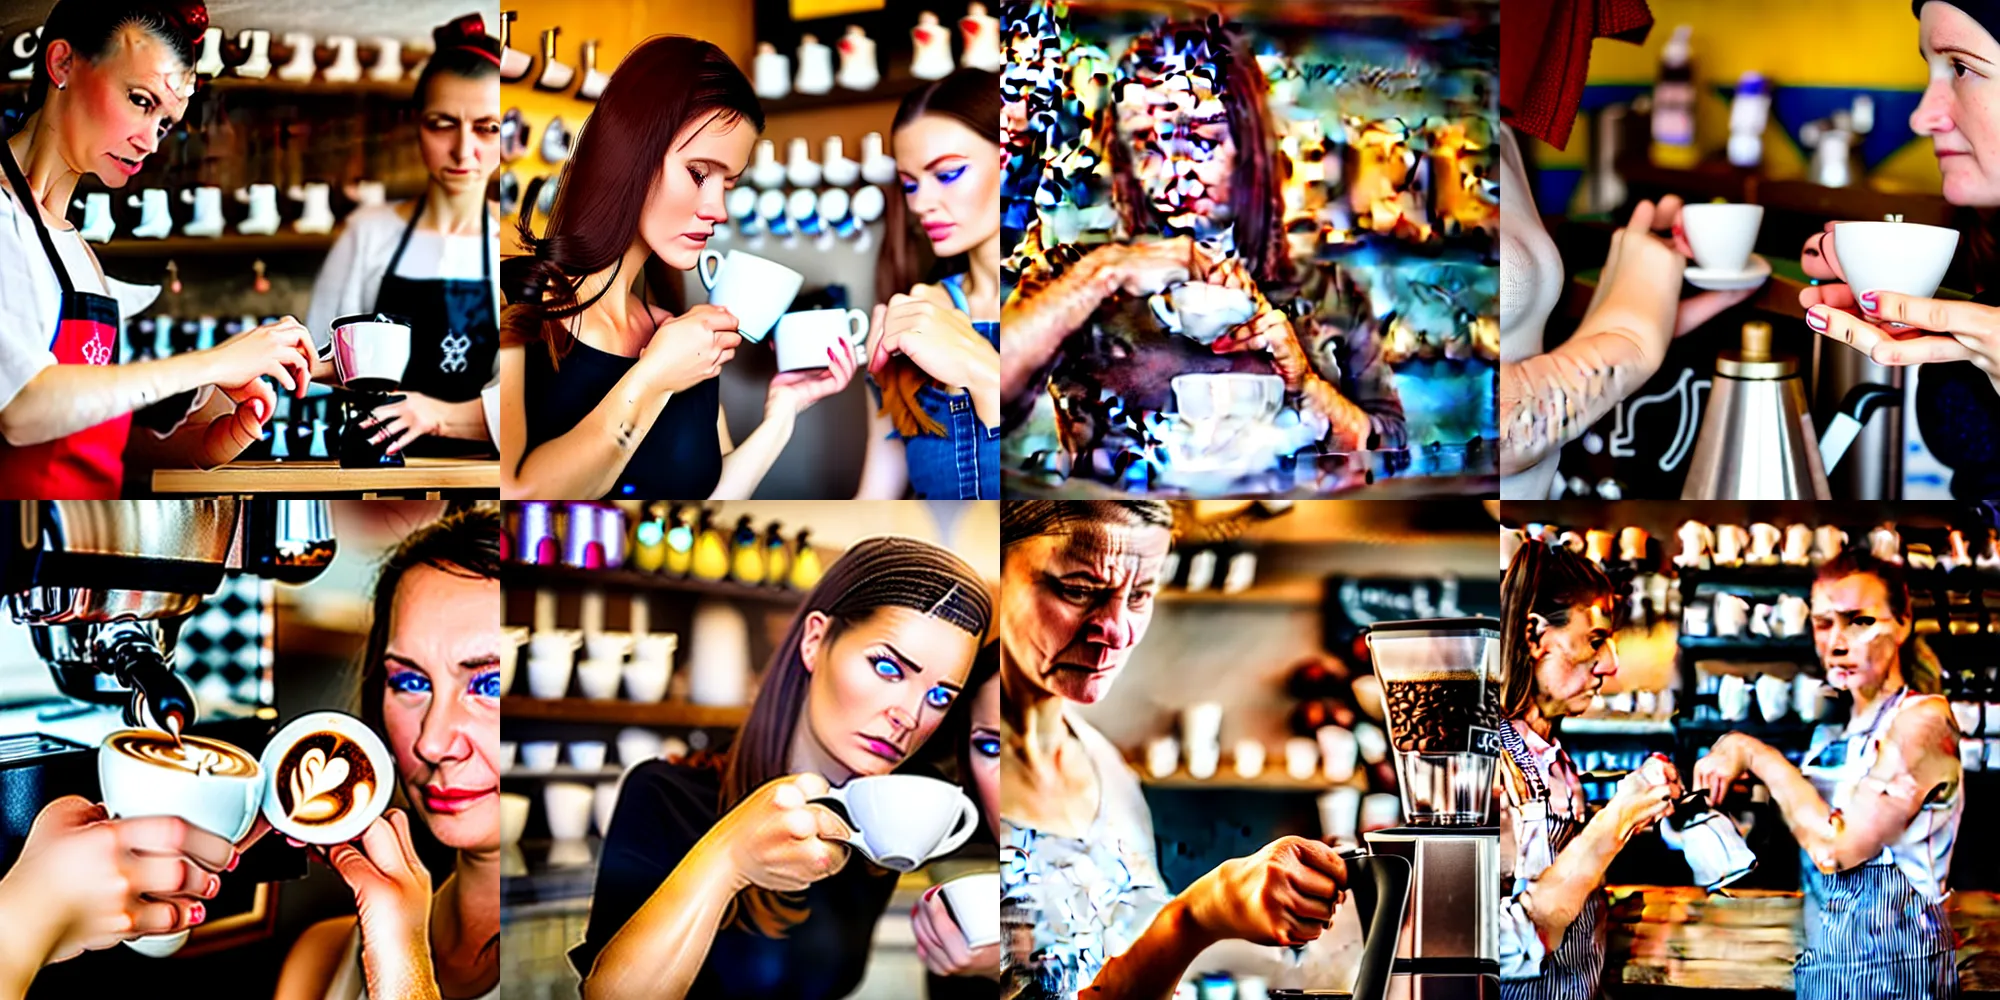
[{"label": "white cup tilted in hand of woman with braided-line hair", "polygon": [[952,782],[920,774],[874,774],[814,798],[840,806],[852,828],[848,846],[894,872],[958,850],[978,828],[980,810]]}]

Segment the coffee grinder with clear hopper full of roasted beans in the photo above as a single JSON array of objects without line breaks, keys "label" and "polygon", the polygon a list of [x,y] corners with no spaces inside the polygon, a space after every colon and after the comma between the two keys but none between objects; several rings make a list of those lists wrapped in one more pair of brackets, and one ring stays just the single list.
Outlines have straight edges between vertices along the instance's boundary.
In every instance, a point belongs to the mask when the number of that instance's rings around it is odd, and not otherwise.
[{"label": "coffee grinder with clear hopper full of roasted beans", "polygon": [[1376,622],[1404,826],[1364,834],[1410,862],[1392,1000],[1500,996],[1500,828],[1484,826],[1500,760],[1500,622]]}]

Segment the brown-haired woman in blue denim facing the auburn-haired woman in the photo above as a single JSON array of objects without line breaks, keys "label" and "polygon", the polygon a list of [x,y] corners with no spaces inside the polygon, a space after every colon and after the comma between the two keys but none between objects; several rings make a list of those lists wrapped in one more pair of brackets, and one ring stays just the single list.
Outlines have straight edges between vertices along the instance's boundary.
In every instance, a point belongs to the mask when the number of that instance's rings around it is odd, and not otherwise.
[{"label": "brown-haired woman in blue denim facing the auburn-haired woman", "polygon": [[[870,420],[858,500],[1000,498],[1000,78],[960,68],[902,98],[890,142],[902,202],[884,224],[868,372]],[[940,270],[916,284],[910,222]]]}]

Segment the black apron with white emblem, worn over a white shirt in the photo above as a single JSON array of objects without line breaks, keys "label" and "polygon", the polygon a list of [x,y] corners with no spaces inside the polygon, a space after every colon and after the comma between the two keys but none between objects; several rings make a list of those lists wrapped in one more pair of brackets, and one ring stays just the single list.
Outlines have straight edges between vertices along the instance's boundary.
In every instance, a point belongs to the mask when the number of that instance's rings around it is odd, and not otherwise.
[{"label": "black apron with white emblem, worn over a white shirt", "polygon": [[[492,254],[486,240],[492,236],[492,216],[480,208],[480,278],[402,278],[396,266],[410,246],[416,220],[424,218],[424,198],[410,210],[410,224],[402,228],[396,254],[388,258],[382,272],[382,288],[376,292],[376,312],[400,316],[410,322],[410,330],[420,336],[410,338],[410,364],[402,372],[402,390],[422,392],[444,402],[468,402],[480,398],[480,390],[492,382],[494,358],[500,352],[500,314],[494,310]],[[438,330],[440,336],[428,336]],[[418,458],[470,458],[498,454],[494,442],[474,442],[458,438],[418,438],[402,454]]]}]

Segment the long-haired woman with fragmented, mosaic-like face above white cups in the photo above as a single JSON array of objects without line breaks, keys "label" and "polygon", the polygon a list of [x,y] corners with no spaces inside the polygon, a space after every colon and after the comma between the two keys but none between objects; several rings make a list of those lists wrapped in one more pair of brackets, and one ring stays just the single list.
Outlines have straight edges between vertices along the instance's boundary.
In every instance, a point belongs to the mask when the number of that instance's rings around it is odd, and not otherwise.
[{"label": "long-haired woman with fragmented, mosaic-like face above white cups", "polygon": [[[1182,104],[1190,92],[1214,100]],[[1292,318],[1272,304],[1298,300],[1286,286],[1292,266],[1266,92],[1244,40],[1216,18],[1162,24],[1132,42],[1104,112],[1114,130],[1116,238],[1088,254],[1048,238],[1044,252],[1042,222],[1030,228],[1030,260],[1002,308],[1008,432],[1052,396],[1064,452],[1088,470],[1090,452],[1120,450],[1108,444],[1118,434],[1112,410],[1168,410],[1176,374],[1258,372],[1284,378],[1292,406],[1326,448],[1402,446],[1402,400],[1372,328],[1332,336],[1340,330],[1330,318],[1300,320],[1314,350],[1332,354],[1314,360]],[[1056,164],[1044,166],[1044,184],[1062,184],[1056,174]],[[1154,234],[1162,238],[1138,242]],[[1256,314],[1212,346],[1172,336],[1150,316],[1146,296],[1186,280],[1242,290]],[[1322,348],[1326,340],[1338,346]],[[1320,374],[1328,362],[1336,380]]]}]

